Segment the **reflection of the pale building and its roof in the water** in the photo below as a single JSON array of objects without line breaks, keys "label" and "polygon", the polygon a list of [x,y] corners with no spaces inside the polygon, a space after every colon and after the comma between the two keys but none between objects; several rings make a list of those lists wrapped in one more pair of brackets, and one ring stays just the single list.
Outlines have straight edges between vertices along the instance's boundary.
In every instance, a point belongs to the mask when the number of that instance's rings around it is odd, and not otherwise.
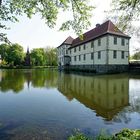
[{"label": "reflection of the pale building and its roof in the water", "polygon": [[129,78],[125,75],[81,76],[60,73],[58,90],[77,99],[107,121],[129,105]]}]

